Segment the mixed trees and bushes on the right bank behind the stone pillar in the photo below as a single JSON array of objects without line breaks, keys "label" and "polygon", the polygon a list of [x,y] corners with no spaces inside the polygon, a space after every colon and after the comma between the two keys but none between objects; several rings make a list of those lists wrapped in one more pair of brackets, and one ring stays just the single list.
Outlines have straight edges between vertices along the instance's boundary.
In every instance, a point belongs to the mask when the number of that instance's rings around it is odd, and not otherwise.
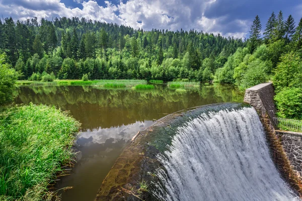
[{"label": "mixed trees and bushes on the right bank behind the stone pillar", "polygon": [[280,11],[271,14],[265,32],[256,16],[247,46],[239,47],[222,68],[215,72],[218,82],[235,83],[245,89],[273,81],[278,116],[302,119],[302,18],[295,26]]}]

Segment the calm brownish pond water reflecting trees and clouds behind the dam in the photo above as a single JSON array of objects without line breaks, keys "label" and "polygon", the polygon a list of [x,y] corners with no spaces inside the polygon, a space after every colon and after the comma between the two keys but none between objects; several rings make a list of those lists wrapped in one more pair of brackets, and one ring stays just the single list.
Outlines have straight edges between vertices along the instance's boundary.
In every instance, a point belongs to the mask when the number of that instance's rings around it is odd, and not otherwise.
[{"label": "calm brownish pond water reflecting trees and clouds behind the dam", "polygon": [[230,85],[207,85],[186,91],[157,85],[152,90],[100,89],[93,86],[22,86],[17,104],[54,105],[82,123],[81,151],[71,175],[57,188],[73,186],[62,201],[94,200],[123,148],[139,131],[182,109],[223,102],[242,102],[243,93]]}]

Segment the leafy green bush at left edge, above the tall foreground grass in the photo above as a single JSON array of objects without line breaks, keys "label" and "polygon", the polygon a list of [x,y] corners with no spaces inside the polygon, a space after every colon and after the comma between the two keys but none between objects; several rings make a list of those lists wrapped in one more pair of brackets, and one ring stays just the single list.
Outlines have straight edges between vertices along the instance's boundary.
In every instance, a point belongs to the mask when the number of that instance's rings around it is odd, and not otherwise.
[{"label": "leafy green bush at left edge, above the tall foreground grass", "polygon": [[0,106],[13,99],[13,91],[19,74],[6,62],[6,54],[0,54]]}]

